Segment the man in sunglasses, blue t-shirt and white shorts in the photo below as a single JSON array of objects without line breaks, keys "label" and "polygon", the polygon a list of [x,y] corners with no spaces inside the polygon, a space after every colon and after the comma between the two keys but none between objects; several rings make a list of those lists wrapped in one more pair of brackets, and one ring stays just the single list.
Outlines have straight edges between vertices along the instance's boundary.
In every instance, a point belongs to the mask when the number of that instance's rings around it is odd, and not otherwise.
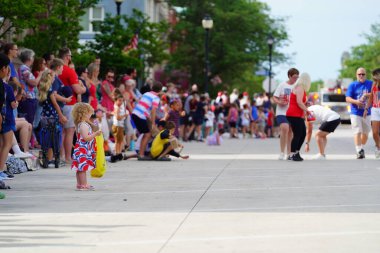
[{"label": "man in sunglasses, blue t-shirt and white shorts", "polygon": [[354,130],[354,142],[357,159],[365,158],[364,145],[367,143],[371,131],[371,108],[367,105],[367,117],[363,117],[368,97],[372,88],[372,81],[367,80],[366,70],[356,70],[357,81],[352,82],[346,92],[346,102],[351,104],[351,127]]}]

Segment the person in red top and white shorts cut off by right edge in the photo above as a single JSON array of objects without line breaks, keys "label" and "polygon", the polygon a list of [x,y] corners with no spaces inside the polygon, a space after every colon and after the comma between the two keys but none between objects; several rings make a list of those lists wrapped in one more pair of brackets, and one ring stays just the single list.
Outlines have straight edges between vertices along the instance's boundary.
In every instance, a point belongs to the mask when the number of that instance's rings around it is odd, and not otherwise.
[{"label": "person in red top and white shorts cut off by right edge", "polygon": [[372,89],[371,93],[368,99],[368,103],[366,104],[363,118],[367,117],[367,113],[369,110],[369,107],[372,106],[371,110],[371,127],[372,127],[372,137],[375,141],[376,150],[375,150],[375,157],[376,159],[380,159],[380,135],[379,135],[379,128],[380,128],[380,68],[375,69],[372,71]]}]

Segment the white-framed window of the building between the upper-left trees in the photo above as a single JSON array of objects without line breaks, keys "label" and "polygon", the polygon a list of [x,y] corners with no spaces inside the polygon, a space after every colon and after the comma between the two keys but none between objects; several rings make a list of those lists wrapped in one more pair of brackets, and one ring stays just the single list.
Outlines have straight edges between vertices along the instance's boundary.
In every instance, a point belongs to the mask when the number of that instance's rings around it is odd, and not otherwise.
[{"label": "white-framed window of the building between the upper-left trees", "polygon": [[82,33],[94,33],[99,31],[99,24],[104,20],[103,7],[91,7],[86,10],[86,13],[80,18]]}]

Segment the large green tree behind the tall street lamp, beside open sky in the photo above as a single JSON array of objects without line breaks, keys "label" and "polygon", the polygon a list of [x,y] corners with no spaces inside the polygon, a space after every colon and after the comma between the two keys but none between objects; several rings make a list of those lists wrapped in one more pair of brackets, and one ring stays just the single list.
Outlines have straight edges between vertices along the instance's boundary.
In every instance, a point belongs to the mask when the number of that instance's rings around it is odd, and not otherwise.
[{"label": "large green tree behind the tall street lamp, beside open sky", "polygon": [[275,38],[273,61],[281,62],[285,56],[278,52],[288,35],[282,19],[269,16],[269,7],[258,1],[246,0],[172,0],[182,7],[179,22],[171,34],[177,44],[169,62],[172,69],[191,74],[191,81],[203,84],[205,65],[205,31],[201,25],[209,14],[214,27],[210,30],[211,76],[221,76],[224,83],[234,86],[251,83],[255,70],[267,65],[267,38]]}]

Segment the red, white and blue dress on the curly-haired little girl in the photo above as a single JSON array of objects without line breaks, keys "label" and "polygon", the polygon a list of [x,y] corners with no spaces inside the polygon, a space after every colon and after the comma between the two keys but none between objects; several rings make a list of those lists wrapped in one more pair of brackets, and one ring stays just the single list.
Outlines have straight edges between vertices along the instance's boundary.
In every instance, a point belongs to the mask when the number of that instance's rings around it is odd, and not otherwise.
[{"label": "red, white and blue dress on the curly-haired little girl", "polygon": [[[81,124],[86,124],[89,128],[88,134],[92,134],[91,126],[85,122]],[[78,129],[80,124],[78,126]],[[96,141],[95,138],[91,141],[85,141],[80,135],[79,131],[77,133],[77,142],[74,147],[73,162],[71,164],[71,170],[74,171],[91,171],[96,167]]]}]

